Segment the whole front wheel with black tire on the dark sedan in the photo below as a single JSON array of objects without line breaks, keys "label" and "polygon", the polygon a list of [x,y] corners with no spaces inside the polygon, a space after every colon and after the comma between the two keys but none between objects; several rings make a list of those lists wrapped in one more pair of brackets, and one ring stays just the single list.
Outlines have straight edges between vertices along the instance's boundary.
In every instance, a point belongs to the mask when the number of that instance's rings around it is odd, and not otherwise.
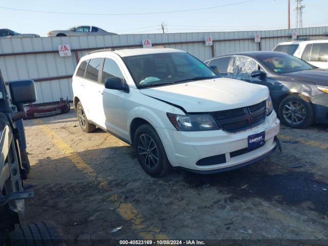
[{"label": "whole front wheel with black tire on the dark sedan", "polygon": [[311,126],[315,116],[311,101],[298,94],[283,98],[279,104],[278,114],[282,123],[292,128]]}]

